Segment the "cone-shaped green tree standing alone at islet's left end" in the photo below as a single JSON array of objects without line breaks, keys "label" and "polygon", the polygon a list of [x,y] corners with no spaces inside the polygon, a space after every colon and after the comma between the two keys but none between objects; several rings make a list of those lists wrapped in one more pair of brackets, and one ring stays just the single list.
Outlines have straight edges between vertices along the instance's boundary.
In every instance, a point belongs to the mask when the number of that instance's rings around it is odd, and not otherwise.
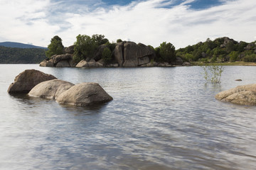
[{"label": "cone-shaped green tree standing alone at islet's left end", "polygon": [[46,51],[46,57],[52,57],[53,55],[62,55],[63,54],[63,43],[61,38],[58,35],[55,35],[48,45],[48,50]]}]

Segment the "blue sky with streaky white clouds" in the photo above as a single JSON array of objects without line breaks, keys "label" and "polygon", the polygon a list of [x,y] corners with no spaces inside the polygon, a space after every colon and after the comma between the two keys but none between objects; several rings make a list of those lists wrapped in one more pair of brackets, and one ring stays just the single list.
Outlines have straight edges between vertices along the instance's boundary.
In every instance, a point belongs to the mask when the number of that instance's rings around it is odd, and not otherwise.
[{"label": "blue sky with streaky white clouds", "polygon": [[0,42],[47,47],[58,35],[68,47],[79,34],[176,49],[207,38],[253,42],[255,9],[255,0],[0,0]]}]

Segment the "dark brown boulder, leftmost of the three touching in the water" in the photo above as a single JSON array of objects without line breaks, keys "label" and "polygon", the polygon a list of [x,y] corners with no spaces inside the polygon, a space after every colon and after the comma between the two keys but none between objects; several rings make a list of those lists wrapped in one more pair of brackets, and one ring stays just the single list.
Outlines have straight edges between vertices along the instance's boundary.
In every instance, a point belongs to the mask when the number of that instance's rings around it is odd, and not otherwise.
[{"label": "dark brown boulder, leftmost of the three touching in the water", "polygon": [[36,69],[26,69],[14,79],[14,83],[9,86],[9,94],[25,93],[27,94],[34,86],[43,81],[57,79],[53,75],[45,74]]}]

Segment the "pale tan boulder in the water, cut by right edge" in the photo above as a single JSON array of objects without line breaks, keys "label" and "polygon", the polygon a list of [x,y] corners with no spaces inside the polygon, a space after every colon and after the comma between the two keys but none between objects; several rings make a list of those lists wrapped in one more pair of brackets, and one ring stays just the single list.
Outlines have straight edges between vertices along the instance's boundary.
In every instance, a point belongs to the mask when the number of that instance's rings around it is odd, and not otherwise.
[{"label": "pale tan boulder in the water, cut by right edge", "polygon": [[236,103],[240,105],[256,105],[256,84],[237,86],[234,89],[221,91],[215,96],[220,101]]}]

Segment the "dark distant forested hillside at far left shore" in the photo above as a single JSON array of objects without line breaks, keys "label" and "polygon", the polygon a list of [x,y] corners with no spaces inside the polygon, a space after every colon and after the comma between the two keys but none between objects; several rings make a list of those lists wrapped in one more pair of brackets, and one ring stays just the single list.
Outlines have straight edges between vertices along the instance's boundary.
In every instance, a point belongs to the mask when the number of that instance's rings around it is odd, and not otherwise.
[{"label": "dark distant forested hillside at far left shore", "polygon": [[1,64],[35,64],[46,59],[46,50],[0,46]]}]

